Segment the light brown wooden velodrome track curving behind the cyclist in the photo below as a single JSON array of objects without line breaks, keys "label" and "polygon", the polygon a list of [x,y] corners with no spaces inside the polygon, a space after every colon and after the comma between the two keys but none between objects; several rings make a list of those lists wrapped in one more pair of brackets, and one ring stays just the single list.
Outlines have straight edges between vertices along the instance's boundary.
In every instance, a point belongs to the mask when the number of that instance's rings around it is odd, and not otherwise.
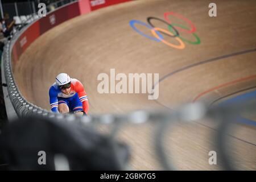
[{"label": "light brown wooden velodrome track curving behind the cyclist", "polygon": [[[106,7],[68,20],[36,39],[13,67],[15,81],[28,101],[49,109],[48,89],[60,72],[78,78],[85,86],[92,113],[125,113],[135,109],[169,107],[185,102],[213,102],[230,93],[255,90],[256,85],[256,1],[214,1],[217,17],[209,17],[210,1],[133,1]],[[130,20],[147,23],[147,17],[164,19],[175,12],[195,24],[200,44],[184,43],[177,49],[138,34]],[[168,16],[174,23],[189,27],[184,20]],[[155,27],[167,24],[152,19]],[[147,36],[150,29],[135,26]],[[179,31],[195,41],[195,36]],[[179,45],[162,34],[164,40]],[[207,60],[208,61],[205,63]],[[189,65],[200,63],[195,66]],[[204,64],[203,64],[204,63]],[[187,67],[187,68],[184,68]],[[147,94],[100,94],[100,73],[159,73],[159,98]],[[184,69],[182,69],[184,68]],[[215,89],[214,89],[215,88]],[[250,89],[246,89],[250,88]],[[244,90],[243,90],[244,89]],[[209,92],[205,92],[209,90]],[[243,91],[240,91],[243,90]],[[210,92],[211,91],[211,92]],[[205,94],[204,94],[205,92]],[[201,94],[200,94],[201,93]],[[221,100],[221,101],[222,101]],[[255,116],[253,116],[255,119]],[[177,169],[221,169],[208,164],[214,150],[216,125],[208,121],[175,126],[168,140]],[[155,125],[123,127],[119,135],[131,146],[130,166],[134,169],[161,169],[154,150]],[[256,169],[255,126],[239,126],[233,138],[241,169]],[[171,143],[171,144],[169,144]]]}]

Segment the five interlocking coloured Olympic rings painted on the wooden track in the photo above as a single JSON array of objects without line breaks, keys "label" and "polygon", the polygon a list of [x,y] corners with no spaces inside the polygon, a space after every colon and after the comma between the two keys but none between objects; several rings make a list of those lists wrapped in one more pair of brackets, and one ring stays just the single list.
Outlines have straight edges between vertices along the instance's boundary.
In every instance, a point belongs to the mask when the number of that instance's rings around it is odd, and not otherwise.
[{"label": "five interlocking coloured Olympic rings painted on the wooden track", "polygon": [[[185,22],[187,22],[189,24],[190,28],[187,28],[181,24],[171,23],[171,20],[168,18],[170,15],[176,16],[176,18],[184,20]],[[153,19],[167,24],[168,30],[165,30],[165,29],[159,28],[159,27],[155,27],[154,24],[152,24]],[[184,42],[189,43],[189,44],[194,44],[194,45],[201,43],[199,36],[197,36],[195,34],[195,32],[196,32],[195,25],[189,19],[185,18],[184,16],[182,16],[180,14],[174,13],[174,12],[164,13],[164,19],[165,20],[151,16],[151,17],[147,18],[148,24],[141,22],[139,20],[130,20],[130,26],[136,32],[138,32],[138,34],[141,34],[142,36],[144,36],[150,40],[153,40],[155,42],[162,42],[162,43],[166,44],[167,46],[170,46],[170,47],[173,47],[176,49],[184,49],[185,48]],[[142,31],[138,30],[137,27],[135,27],[135,24],[141,24],[142,26],[149,28],[151,31],[151,34],[153,36],[148,36],[148,35],[144,34]],[[188,40],[188,39],[181,37],[178,30],[181,32],[185,32],[187,34],[192,34],[195,40],[192,41],[192,40]],[[167,42],[166,40],[164,40],[163,35],[160,32],[164,35],[174,38],[179,44],[176,45],[176,44]]]}]

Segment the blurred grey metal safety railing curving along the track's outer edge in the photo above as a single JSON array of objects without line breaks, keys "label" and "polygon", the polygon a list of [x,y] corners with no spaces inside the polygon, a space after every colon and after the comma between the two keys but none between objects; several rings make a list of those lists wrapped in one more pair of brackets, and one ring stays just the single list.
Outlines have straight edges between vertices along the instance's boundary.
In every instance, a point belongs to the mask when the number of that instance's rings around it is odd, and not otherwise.
[{"label": "blurred grey metal safety railing curving along the track's outer edge", "polygon": [[73,122],[77,125],[86,125],[88,123],[108,123],[113,124],[112,137],[118,133],[122,123],[144,123],[154,122],[158,125],[155,138],[155,151],[160,163],[164,169],[176,169],[172,161],[167,156],[164,147],[163,138],[168,127],[176,122],[195,122],[201,118],[209,117],[221,122],[215,137],[220,158],[223,161],[225,169],[237,169],[232,164],[232,159],[229,158],[228,150],[225,147],[225,138],[233,118],[240,111],[253,111],[256,108],[255,104],[243,106],[223,106],[223,107],[208,107],[207,105],[196,103],[181,106],[176,111],[170,110],[139,110],[127,114],[92,114],[87,117],[79,117],[74,114],[58,114],[52,113],[46,109],[42,109],[26,100],[20,93],[18,86],[16,86],[13,71],[11,68],[11,48],[15,40],[19,37],[18,31],[10,40],[7,40],[3,51],[3,70],[5,72],[5,79],[9,98],[15,109],[18,117],[29,117],[31,115],[38,115],[55,121]]}]

